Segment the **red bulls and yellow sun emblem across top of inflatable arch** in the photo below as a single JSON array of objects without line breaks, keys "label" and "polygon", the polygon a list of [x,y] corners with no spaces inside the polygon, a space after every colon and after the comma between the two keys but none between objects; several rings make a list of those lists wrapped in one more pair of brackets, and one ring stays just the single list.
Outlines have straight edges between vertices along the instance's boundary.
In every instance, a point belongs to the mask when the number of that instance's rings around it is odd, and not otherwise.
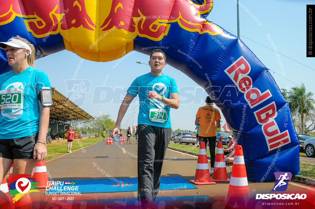
[{"label": "red bulls and yellow sun emblem across top of inflatable arch", "polygon": [[21,17],[34,37],[46,42],[50,35],[60,34],[67,50],[93,61],[110,61],[131,52],[137,36],[160,41],[168,35],[172,24],[200,34],[223,32],[200,17],[211,11],[213,2],[210,0],[203,5],[190,0],[161,0],[158,6],[152,1],[129,0],[97,4],[84,0],[33,0],[27,4],[18,0],[1,1],[0,24]]}]

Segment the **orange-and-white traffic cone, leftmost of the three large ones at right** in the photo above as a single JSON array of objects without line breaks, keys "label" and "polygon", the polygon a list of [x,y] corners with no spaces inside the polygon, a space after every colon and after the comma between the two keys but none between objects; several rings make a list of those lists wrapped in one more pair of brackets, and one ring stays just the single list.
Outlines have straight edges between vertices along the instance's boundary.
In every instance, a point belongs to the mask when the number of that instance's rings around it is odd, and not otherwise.
[{"label": "orange-and-white traffic cone, leftmost of the three large ones at right", "polygon": [[190,182],[196,185],[215,184],[215,182],[210,179],[209,164],[204,142],[200,143],[195,180],[190,180]]}]

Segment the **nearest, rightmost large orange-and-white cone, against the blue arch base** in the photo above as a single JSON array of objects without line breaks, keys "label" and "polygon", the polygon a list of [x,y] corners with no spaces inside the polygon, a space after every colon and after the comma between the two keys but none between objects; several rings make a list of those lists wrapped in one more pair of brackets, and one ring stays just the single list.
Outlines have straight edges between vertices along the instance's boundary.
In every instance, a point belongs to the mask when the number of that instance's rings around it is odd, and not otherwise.
[{"label": "nearest, rightmost large orange-and-white cone, against the blue arch base", "polygon": [[[227,193],[227,199],[231,200],[244,200],[248,195],[248,181],[245,169],[243,149],[241,145],[237,145],[235,148],[235,155],[231,173],[231,181],[229,185],[229,191]],[[236,199],[235,199],[236,198]]]}]

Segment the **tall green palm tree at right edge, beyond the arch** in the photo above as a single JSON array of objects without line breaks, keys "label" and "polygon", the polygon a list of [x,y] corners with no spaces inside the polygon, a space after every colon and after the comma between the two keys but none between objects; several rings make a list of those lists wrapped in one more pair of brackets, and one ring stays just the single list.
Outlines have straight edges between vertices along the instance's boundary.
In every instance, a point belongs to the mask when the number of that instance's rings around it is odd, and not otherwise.
[{"label": "tall green palm tree at right edge, beyond the arch", "polygon": [[315,100],[312,99],[313,93],[306,92],[305,86],[302,83],[301,87],[293,87],[287,93],[287,100],[289,102],[289,107],[291,110],[291,113],[293,116],[297,117],[300,121],[300,124],[298,124],[298,127],[300,129],[300,133],[307,133],[308,128],[306,128],[306,123],[308,122],[307,119],[309,119],[309,115],[314,112],[314,106]]}]

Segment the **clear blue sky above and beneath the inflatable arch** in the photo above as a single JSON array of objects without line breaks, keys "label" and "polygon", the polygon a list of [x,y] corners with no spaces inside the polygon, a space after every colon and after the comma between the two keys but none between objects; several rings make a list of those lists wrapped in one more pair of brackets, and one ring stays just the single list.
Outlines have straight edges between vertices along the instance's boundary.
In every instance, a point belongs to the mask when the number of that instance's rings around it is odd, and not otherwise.
[{"label": "clear blue sky above and beneath the inflatable arch", "polygon": [[[301,85],[303,82],[306,89],[315,93],[314,81],[312,80],[315,72],[306,67],[309,66],[315,69],[315,58],[306,58],[306,4],[313,4],[314,1],[241,0],[240,2],[250,11],[250,14],[248,14],[243,8],[240,8],[241,40],[254,52],[258,59],[260,59],[267,68],[281,74],[281,68],[275,52],[267,49],[272,48],[268,37],[266,37],[270,34],[273,43],[278,48],[278,53],[291,58],[289,59],[285,56],[281,56],[285,78],[298,85]],[[262,26],[255,22],[250,16],[251,14],[255,15]],[[236,35],[236,17],[236,3],[234,0],[214,0],[214,6],[208,16],[208,20],[213,21],[228,32]],[[80,60],[81,58],[76,54],[69,51],[62,51],[38,59],[36,68],[44,70],[49,76],[51,85],[66,95],[67,87],[65,80],[72,79]],[[81,108],[92,116],[110,114],[111,118],[116,121],[120,104],[92,104],[94,87],[102,86],[107,75],[108,79],[106,80],[105,86],[112,88],[115,86],[127,87],[137,76],[150,71],[150,68],[147,65],[139,65],[136,61],[147,63],[148,60],[149,56],[138,52],[126,55],[125,59],[123,59],[115,68],[113,68],[113,65],[115,65],[118,60],[106,63],[84,60],[77,72],[76,79],[89,80],[91,82],[91,90],[87,93],[84,105],[82,105]],[[164,67],[163,73],[174,77],[178,88],[184,86],[198,87],[192,79],[169,65]],[[283,76],[273,74],[273,77],[280,88],[292,88],[296,86],[294,83],[286,80]],[[125,95],[125,92],[123,92],[123,94]],[[203,99],[207,96],[206,93],[200,93],[199,95],[198,98]],[[315,95],[313,98],[315,98]],[[200,102],[195,103],[197,104],[182,104],[179,109],[171,110],[173,130],[177,128],[194,130],[196,112],[200,106],[204,105],[204,103],[200,104]],[[126,116],[123,118],[121,124],[122,127],[125,127],[123,125],[126,123],[129,115],[131,115],[130,119],[132,121],[132,107],[135,106],[136,105],[131,105],[131,107],[129,107]],[[134,121],[136,122],[139,109],[138,107],[135,107],[134,110],[136,111],[136,113],[134,113]],[[225,120],[223,116],[222,119],[224,124]]]}]

